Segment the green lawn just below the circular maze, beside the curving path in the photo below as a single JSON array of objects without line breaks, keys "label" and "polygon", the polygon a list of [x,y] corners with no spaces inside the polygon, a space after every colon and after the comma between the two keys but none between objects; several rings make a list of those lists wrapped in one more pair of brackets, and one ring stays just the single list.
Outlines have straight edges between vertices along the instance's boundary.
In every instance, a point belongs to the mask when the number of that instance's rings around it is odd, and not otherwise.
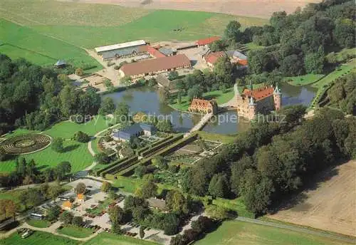
[{"label": "green lawn just below the circular maze, beside the curving path", "polygon": [[[40,152],[22,155],[26,160],[35,160],[36,166],[42,171],[46,167],[55,167],[60,162],[70,162],[72,172],[78,172],[93,163],[93,156],[90,155],[87,144],[72,140],[64,142],[65,152],[55,152],[51,146]],[[0,163],[0,172],[11,172],[15,169],[15,160],[7,160]]]}]

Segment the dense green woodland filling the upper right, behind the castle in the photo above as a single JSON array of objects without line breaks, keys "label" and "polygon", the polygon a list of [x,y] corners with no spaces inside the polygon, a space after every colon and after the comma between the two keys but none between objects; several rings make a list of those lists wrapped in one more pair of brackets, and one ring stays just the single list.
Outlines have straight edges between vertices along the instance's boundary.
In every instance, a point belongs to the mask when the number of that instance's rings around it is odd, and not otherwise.
[{"label": "dense green woodland filling the upper right, behind the castle", "polygon": [[250,42],[265,46],[248,52],[254,83],[275,83],[281,75],[323,73],[336,65],[325,62],[326,53],[355,47],[355,11],[354,1],[325,0],[289,15],[275,12],[269,25],[251,26],[244,31],[240,31],[239,22],[231,21],[224,38],[212,43],[211,49],[236,49]]}]

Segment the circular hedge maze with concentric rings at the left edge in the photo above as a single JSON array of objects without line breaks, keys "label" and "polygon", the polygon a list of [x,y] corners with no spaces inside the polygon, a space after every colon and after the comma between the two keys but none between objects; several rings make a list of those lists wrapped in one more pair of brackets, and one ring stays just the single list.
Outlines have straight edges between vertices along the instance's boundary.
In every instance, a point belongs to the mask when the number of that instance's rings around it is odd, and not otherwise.
[{"label": "circular hedge maze with concentric rings at the left edge", "polygon": [[0,142],[6,154],[21,155],[43,150],[51,144],[51,137],[41,134],[18,135]]}]

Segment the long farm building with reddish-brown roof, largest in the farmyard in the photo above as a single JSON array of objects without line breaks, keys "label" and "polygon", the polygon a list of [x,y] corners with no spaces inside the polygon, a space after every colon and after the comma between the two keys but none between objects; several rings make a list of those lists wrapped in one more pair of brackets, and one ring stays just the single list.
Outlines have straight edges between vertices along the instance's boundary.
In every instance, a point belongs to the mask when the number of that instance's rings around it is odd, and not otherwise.
[{"label": "long farm building with reddish-brown roof, largest in the farmyard", "polygon": [[189,58],[184,54],[179,54],[177,56],[164,56],[147,61],[127,63],[120,68],[119,72],[121,77],[141,78],[145,75],[155,75],[189,67],[191,67]]}]

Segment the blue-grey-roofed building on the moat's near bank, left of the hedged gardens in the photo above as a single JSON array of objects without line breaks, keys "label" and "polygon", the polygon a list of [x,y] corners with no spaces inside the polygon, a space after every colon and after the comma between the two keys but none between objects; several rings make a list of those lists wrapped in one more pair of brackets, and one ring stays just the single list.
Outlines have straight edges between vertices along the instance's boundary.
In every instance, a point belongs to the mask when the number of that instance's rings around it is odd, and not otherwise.
[{"label": "blue-grey-roofed building on the moat's near bank, left of the hedged gardens", "polygon": [[151,136],[157,132],[157,129],[147,123],[135,123],[130,127],[125,127],[123,130],[115,132],[112,137],[114,140],[128,141],[131,137],[138,137],[140,135]]}]

